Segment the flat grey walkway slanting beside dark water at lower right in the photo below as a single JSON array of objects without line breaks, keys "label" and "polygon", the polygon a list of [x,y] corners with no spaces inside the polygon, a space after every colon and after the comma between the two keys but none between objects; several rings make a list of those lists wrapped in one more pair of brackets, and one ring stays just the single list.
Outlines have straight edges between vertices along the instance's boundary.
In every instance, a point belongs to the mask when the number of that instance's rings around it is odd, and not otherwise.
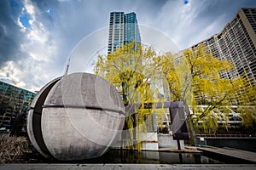
[{"label": "flat grey walkway slanting beside dark water at lower right", "polygon": [[231,156],[245,161],[256,163],[256,153],[246,150],[236,150],[233,148],[215,148],[215,147],[198,147],[198,150],[207,151],[223,156]]}]

